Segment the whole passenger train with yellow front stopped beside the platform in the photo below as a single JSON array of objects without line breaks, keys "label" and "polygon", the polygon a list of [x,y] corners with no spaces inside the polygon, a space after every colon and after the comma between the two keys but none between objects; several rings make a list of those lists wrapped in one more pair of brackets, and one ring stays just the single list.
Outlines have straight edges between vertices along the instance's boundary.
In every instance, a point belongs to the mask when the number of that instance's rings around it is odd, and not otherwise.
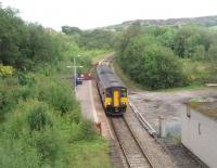
[{"label": "whole passenger train with yellow front stopped beside the platform", "polygon": [[105,114],[123,115],[127,109],[128,89],[107,65],[98,65],[95,81]]}]

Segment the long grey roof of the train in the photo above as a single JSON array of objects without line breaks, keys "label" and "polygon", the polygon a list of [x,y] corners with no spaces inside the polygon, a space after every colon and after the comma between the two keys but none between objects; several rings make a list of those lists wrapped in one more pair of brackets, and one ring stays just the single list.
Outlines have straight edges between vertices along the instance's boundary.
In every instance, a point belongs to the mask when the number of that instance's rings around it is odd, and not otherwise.
[{"label": "long grey roof of the train", "polygon": [[105,88],[125,87],[108,66],[99,65],[97,73]]}]

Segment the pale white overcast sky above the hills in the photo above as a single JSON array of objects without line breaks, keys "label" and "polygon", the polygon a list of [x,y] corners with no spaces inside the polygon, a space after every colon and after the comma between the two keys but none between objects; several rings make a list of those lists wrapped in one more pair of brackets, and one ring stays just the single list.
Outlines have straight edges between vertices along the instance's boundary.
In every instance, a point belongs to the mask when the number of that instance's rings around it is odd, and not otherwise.
[{"label": "pale white overcast sky above the hills", "polygon": [[0,0],[3,8],[44,27],[81,29],[120,24],[131,20],[179,18],[217,15],[217,0]]}]

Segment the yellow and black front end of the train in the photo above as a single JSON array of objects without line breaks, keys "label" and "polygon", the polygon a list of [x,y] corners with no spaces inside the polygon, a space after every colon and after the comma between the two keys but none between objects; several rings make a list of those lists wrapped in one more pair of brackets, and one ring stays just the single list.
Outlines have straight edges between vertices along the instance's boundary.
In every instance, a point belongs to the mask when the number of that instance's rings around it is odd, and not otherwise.
[{"label": "yellow and black front end of the train", "polygon": [[127,88],[106,88],[104,107],[107,115],[123,115],[128,103]]}]

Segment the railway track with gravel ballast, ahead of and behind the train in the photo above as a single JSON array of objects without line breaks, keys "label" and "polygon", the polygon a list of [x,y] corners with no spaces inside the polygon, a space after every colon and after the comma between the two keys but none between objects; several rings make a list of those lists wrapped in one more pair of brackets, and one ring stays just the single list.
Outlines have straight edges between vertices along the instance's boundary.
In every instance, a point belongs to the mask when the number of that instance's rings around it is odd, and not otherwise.
[{"label": "railway track with gravel ballast, ahead of and behind the train", "polygon": [[[111,65],[114,53],[105,56],[100,65]],[[167,151],[156,142],[156,132],[129,103],[123,117],[111,117],[115,139],[119,144],[125,167],[130,168],[174,168],[176,167]]]}]

